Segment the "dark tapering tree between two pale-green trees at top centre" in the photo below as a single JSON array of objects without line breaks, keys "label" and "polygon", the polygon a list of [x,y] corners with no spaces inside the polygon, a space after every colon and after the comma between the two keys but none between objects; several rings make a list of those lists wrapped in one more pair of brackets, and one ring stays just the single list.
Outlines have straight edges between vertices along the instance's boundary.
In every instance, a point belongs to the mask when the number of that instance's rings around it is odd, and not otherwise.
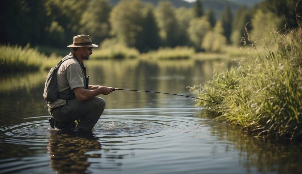
[{"label": "dark tapering tree between two pale-green trees at top centre", "polygon": [[154,16],[153,5],[146,5],[143,11],[143,32],[142,43],[139,50],[148,51],[157,49],[160,46],[159,28],[157,27],[156,19]]}]

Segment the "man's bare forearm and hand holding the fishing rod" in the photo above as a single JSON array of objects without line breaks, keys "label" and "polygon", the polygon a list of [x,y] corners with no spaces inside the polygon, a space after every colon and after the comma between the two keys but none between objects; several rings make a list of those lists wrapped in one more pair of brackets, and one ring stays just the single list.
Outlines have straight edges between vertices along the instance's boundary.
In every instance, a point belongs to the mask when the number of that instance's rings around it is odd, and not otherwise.
[{"label": "man's bare forearm and hand holding the fishing rod", "polygon": [[112,90],[107,86],[92,86],[90,89],[84,89],[83,87],[74,88],[73,92],[78,100],[85,101],[94,98],[99,94],[108,95]]}]

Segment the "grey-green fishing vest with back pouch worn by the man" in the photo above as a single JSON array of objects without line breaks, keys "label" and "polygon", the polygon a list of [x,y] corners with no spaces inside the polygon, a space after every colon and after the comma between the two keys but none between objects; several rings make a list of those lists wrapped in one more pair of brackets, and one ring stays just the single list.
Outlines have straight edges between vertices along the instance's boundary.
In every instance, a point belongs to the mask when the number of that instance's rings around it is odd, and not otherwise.
[{"label": "grey-green fishing vest with back pouch worn by the man", "polygon": [[[45,101],[54,102],[58,98],[63,100],[72,100],[76,98],[75,93],[71,89],[67,91],[64,90],[62,92],[58,92],[57,72],[61,64],[68,59],[77,60],[75,56],[67,55],[56,66],[53,66],[48,72],[47,79],[44,86],[44,92],[43,92],[43,98]],[[84,79],[83,79],[85,85],[84,89],[88,89],[89,76],[86,76],[86,68],[84,67],[84,64],[80,63],[80,65],[84,73]]]}]

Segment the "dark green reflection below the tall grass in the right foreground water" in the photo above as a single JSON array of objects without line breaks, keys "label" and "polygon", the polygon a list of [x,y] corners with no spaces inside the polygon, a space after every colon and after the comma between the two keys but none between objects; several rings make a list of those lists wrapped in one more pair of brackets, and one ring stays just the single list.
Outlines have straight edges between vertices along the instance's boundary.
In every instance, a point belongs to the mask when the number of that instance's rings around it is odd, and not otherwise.
[{"label": "dark green reflection below the tall grass in the right foreground water", "polygon": [[[205,110],[197,113],[197,116],[206,119],[214,118]],[[221,124],[219,122],[213,125]],[[225,125],[212,129],[210,134],[216,137],[218,142],[233,142],[225,146],[225,151],[238,150],[239,163],[248,172],[251,172],[253,167],[257,167],[261,173],[302,173],[301,144],[256,138],[247,132],[239,131],[237,126]]]}]

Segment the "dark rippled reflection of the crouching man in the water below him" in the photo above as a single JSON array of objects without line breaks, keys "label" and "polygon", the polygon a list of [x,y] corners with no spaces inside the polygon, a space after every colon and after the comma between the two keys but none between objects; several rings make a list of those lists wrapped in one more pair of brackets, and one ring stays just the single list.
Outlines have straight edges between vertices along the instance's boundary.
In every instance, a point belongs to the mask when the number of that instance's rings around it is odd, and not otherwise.
[{"label": "dark rippled reflection of the crouching man in the water below him", "polygon": [[[48,143],[50,166],[57,173],[83,173],[90,163],[88,158],[100,158],[101,154],[87,154],[101,150],[101,144],[91,134],[78,136],[71,130],[51,130]],[[67,130],[65,130],[67,131]]]}]

